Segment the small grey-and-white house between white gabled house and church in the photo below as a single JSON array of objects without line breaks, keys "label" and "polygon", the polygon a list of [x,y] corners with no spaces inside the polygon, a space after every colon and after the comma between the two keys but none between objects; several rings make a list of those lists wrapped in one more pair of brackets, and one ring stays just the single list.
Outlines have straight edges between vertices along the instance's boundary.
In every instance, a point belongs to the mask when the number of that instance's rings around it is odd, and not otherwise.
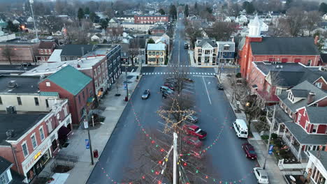
[{"label": "small grey-and-white house between white gabled house and church", "polygon": [[217,41],[217,62],[234,63],[235,43]]}]

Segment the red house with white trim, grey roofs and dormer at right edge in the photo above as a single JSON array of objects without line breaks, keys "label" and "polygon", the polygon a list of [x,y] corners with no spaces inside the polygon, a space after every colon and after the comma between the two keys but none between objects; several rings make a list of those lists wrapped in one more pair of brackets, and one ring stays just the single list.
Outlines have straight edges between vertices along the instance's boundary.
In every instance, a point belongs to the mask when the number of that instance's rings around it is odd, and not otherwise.
[{"label": "red house with white trim, grey roofs and dormer at right edge", "polygon": [[[278,95],[275,111],[277,133],[300,162],[307,162],[308,151],[317,151],[327,142],[327,93],[303,81]],[[268,123],[271,123],[271,119]]]}]

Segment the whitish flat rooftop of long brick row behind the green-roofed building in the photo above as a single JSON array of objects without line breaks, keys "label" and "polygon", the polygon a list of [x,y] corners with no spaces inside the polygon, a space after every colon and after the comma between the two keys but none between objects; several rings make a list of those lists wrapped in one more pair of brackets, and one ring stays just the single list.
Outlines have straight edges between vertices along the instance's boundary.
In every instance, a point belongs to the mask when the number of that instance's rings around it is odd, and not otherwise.
[{"label": "whitish flat rooftop of long brick row behind the green-roofed building", "polygon": [[96,57],[87,57],[87,58],[77,59],[72,61],[43,63],[42,65],[33,68],[32,70],[24,72],[23,75],[50,75],[68,65],[73,66],[77,70],[86,70],[92,68],[92,66],[94,66],[96,63],[98,63],[99,61],[105,58],[106,56],[96,56]]}]

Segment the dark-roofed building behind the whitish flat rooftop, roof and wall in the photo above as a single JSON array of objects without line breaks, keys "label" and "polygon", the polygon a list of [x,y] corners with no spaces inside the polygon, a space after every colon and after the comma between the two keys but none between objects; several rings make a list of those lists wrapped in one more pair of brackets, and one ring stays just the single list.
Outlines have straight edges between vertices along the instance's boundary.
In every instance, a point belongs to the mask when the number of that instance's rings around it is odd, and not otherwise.
[{"label": "dark-roofed building behind the whitish flat rooftop, roof and wall", "polygon": [[64,47],[62,47],[61,49],[62,49],[60,54],[61,61],[70,61],[70,60],[80,59],[88,52],[91,52],[94,49],[94,45],[71,44],[71,45],[64,45]]}]

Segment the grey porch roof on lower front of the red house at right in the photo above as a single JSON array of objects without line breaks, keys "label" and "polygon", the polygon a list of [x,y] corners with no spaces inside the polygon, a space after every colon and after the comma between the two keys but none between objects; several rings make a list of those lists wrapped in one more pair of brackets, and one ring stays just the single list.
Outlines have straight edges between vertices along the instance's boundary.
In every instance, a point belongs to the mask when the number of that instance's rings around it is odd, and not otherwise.
[{"label": "grey porch roof on lower front of the red house at right", "polygon": [[300,144],[325,145],[327,142],[327,135],[308,134],[297,123],[287,122],[284,125]]}]

